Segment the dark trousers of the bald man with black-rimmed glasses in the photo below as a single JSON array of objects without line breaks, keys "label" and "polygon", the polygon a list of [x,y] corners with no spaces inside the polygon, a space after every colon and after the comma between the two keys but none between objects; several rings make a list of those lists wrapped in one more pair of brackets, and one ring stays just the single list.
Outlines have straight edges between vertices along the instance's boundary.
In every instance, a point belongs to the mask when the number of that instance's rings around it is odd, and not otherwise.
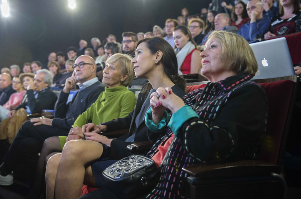
[{"label": "dark trousers of the bald man with black-rimmed glasses", "polygon": [[15,170],[21,166],[31,184],[39,160],[38,153],[41,152],[44,141],[53,136],[68,136],[69,133],[66,129],[33,124],[30,121],[22,124],[3,158],[6,168]]}]

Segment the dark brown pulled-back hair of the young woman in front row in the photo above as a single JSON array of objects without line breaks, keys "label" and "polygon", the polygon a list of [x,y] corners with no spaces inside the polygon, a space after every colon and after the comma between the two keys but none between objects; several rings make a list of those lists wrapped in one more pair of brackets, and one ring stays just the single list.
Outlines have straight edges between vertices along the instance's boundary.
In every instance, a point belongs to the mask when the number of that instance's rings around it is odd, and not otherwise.
[{"label": "dark brown pulled-back hair of the young woman in front row", "polygon": [[[137,46],[143,42],[145,42],[152,54],[158,51],[162,52],[163,55],[160,62],[163,65],[164,73],[174,84],[177,84],[182,90],[186,91],[186,81],[178,74],[177,56],[172,46],[165,39],[158,36],[142,39],[138,42]],[[147,83],[143,86],[141,93],[147,96],[151,89],[152,85]]]}]

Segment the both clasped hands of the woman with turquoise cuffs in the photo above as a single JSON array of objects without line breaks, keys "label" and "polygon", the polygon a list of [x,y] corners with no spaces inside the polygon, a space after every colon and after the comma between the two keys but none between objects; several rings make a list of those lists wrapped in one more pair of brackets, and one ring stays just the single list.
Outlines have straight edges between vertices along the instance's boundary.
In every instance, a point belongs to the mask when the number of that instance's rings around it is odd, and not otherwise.
[{"label": "both clasped hands of the woman with turquoise cuffs", "polygon": [[163,118],[165,109],[172,113],[177,112],[185,106],[183,100],[173,93],[173,89],[160,87],[156,92],[150,95],[150,105],[152,108],[152,119],[155,124],[160,123]]}]

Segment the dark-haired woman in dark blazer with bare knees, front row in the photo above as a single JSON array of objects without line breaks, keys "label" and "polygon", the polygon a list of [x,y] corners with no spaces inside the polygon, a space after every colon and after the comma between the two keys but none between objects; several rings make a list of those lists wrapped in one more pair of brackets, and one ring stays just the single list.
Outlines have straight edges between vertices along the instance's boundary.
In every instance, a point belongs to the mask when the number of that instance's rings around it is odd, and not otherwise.
[{"label": "dark-haired woman in dark blazer with bare knees, front row", "polygon": [[[131,155],[126,151],[127,145],[149,139],[156,140],[159,136],[153,135],[152,132],[147,134],[144,123],[146,111],[150,107],[151,93],[162,86],[173,88],[173,92],[179,97],[185,95],[186,83],[177,74],[176,54],[165,39],[151,37],[139,41],[132,63],[136,77],[146,78],[150,82],[139,94],[135,110],[125,118],[118,118],[100,126],[85,125],[83,133],[87,140],[67,142],[62,154],[52,156],[46,169],[47,197],[53,198],[54,185],[55,197],[65,199],[78,198],[83,181],[85,185],[102,187],[101,172],[117,160]],[[89,133],[91,128],[94,131]],[[96,133],[128,128],[128,134],[115,140]],[[66,190],[70,189],[73,191],[66,193]]]}]

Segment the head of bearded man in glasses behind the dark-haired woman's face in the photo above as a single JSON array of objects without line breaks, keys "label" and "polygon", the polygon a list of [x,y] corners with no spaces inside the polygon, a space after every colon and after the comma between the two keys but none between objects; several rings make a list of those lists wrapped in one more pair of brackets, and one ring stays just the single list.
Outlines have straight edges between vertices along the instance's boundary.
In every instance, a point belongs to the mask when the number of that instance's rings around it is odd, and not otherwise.
[{"label": "head of bearded man in glasses behind the dark-haired woman's face", "polygon": [[123,54],[128,54],[131,57],[134,57],[135,49],[138,43],[137,35],[134,32],[123,32],[121,43]]}]

